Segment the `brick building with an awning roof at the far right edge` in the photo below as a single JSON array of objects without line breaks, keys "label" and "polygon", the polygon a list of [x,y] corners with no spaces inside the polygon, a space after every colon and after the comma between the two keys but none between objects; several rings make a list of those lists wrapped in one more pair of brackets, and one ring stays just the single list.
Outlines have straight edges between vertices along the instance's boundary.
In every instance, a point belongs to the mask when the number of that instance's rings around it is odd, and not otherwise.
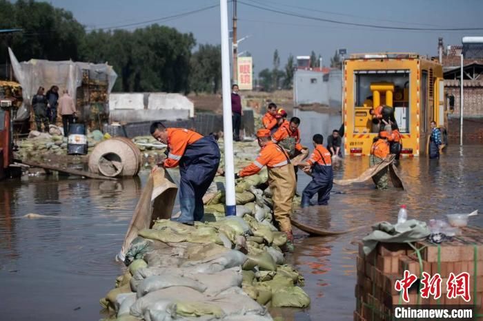
[{"label": "brick building with an awning roof at the far right edge", "polygon": [[449,114],[449,143],[460,143],[460,54],[463,67],[463,142],[483,144],[483,46],[476,44],[449,45],[442,49],[444,92],[455,97],[455,108]]}]

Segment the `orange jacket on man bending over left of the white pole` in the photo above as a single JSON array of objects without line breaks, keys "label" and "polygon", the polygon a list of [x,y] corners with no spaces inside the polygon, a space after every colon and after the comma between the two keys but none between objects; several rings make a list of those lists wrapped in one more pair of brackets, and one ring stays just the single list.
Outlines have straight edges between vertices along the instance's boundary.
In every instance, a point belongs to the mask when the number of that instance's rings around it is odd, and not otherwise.
[{"label": "orange jacket on man bending over left of the white pole", "polygon": [[184,155],[184,151],[188,145],[191,145],[203,138],[193,130],[184,128],[168,128],[168,147],[170,149],[168,158],[164,161],[164,167],[177,167],[179,160]]}]

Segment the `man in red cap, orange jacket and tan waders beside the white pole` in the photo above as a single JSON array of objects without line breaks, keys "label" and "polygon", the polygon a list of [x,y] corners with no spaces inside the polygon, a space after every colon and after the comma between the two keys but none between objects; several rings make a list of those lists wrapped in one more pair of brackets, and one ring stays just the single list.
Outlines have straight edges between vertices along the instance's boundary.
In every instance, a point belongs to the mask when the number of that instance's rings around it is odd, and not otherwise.
[{"label": "man in red cap, orange jacket and tan waders beside the white pole", "polygon": [[279,229],[287,235],[287,250],[293,251],[293,234],[290,223],[292,200],[297,188],[295,171],[288,154],[282,147],[273,143],[270,130],[257,132],[258,145],[262,147],[257,159],[242,169],[235,178],[257,174],[264,166],[268,168],[268,186],[273,194],[273,214]]}]

